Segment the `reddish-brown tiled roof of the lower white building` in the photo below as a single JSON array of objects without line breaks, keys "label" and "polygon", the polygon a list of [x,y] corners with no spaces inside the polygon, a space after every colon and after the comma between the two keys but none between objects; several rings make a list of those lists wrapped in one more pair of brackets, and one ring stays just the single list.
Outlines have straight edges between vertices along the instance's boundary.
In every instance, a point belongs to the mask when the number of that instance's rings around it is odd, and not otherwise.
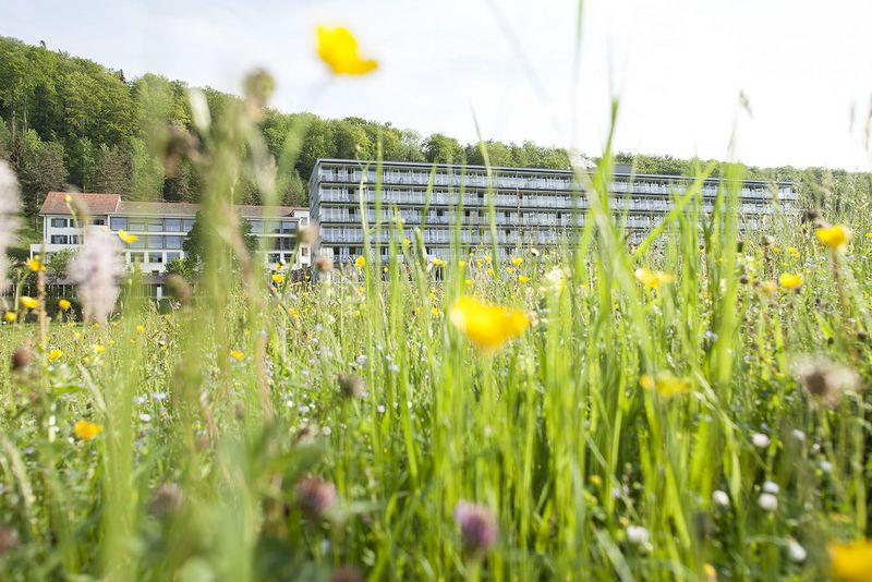
[{"label": "reddish-brown tiled roof of the lower white building", "polygon": [[[85,203],[90,215],[130,215],[130,216],[195,216],[198,204],[185,202],[126,202],[120,194],[76,194],[68,192],[49,192],[43,203],[40,215],[69,215],[70,208],[64,202],[66,195],[80,198]],[[234,206],[245,218],[261,216],[286,217],[294,210],[308,210],[302,206]]]}]

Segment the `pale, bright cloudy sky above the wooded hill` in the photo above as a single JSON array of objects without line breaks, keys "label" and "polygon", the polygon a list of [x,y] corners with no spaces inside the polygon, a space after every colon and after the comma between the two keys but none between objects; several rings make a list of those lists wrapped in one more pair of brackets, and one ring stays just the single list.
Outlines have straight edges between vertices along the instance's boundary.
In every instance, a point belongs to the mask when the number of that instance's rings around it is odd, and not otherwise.
[{"label": "pale, bright cloudy sky above the wooded hill", "polygon": [[[534,141],[754,166],[872,169],[868,0],[2,0],[0,35],[240,93],[263,66],[287,112],[461,142]],[[348,26],[335,78],[315,26]],[[577,59],[577,40],[578,45]]]}]

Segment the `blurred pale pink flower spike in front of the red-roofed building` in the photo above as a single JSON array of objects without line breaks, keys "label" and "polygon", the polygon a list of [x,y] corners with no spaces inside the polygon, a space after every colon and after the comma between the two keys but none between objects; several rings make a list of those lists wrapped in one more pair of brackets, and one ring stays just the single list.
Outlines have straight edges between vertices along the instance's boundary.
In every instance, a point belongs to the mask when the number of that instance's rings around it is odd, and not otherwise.
[{"label": "blurred pale pink flower spike in front of the red-roofed building", "polygon": [[70,262],[70,279],[78,287],[78,299],[86,320],[106,323],[118,299],[117,280],[123,274],[118,239],[92,228]]}]

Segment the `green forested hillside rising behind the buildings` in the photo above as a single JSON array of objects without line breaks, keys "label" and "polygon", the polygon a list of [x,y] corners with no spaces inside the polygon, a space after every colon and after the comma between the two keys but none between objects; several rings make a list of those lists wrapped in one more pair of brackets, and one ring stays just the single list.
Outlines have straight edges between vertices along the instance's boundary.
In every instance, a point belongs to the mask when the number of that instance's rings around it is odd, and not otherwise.
[{"label": "green forested hillside rising behind the buildings", "polygon": [[[203,89],[213,117],[240,98]],[[196,202],[199,175],[187,159],[169,174],[162,163],[168,124],[195,134],[187,86],[159,75],[128,80],[123,71],[86,59],[0,37],[0,157],[9,159],[23,185],[26,211],[34,214],[45,193],[74,187],[117,192],[128,199]],[[292,175],[281,181],[286,204],[306,204],[305,183],[319,157],[482,163],[479,144],[443,134],[423,137],[414,130],[360,118],[320,119],[313,113],[267,109],[261,123],[270,153],[279,158],[291,128],[305,128]],[[162,136],[162,137],[161,137]],[[491,163],[568,168],[567,153],[487,142]],[[682,174],[695,160],[621,154],[640,173]],[[870,175],[823,168],[750,168],[752,178],[792,180],[807,204],[838,210],[846,201],[865,201]],[[239,202],[257,204],[253,181],[243,179]]]}]

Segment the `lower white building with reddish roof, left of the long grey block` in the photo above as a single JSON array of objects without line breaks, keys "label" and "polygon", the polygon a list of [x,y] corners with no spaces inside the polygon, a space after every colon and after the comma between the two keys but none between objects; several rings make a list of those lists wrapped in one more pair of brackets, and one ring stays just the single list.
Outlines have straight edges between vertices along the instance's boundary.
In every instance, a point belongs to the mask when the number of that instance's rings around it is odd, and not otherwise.
[{"label": "lower white building with reddish roof, left of the long grey block", "polygon": [[[112,231],[125,230],[137,240],[125,245],[128,264],[140,264],[145,275],[157,276],[153,282],[156,294],[162,295],[161,278],[166,266],[184,256],[182,242],[193,228],[199,209],[197,204],[174,202],[126,202],[118,194],[72,194],[88,210],[92,225],[106,226]],[[62,250],[75,250],[82,243],[81,225],[76,226],[65,202],[66,193],[50,192],[39,216],[43,219],[44,242],[31,245],[31,255],[45,252],[46,258]],[[296,232],[308,226],[308,209],[291,206],[235,206],[240,216],[252,226],[261,242],[266,239],[263,259],[284,263],[292,269],[311,264],[308,245],[296,246]],[[45,247],[44,247],[45,246]]]}]

